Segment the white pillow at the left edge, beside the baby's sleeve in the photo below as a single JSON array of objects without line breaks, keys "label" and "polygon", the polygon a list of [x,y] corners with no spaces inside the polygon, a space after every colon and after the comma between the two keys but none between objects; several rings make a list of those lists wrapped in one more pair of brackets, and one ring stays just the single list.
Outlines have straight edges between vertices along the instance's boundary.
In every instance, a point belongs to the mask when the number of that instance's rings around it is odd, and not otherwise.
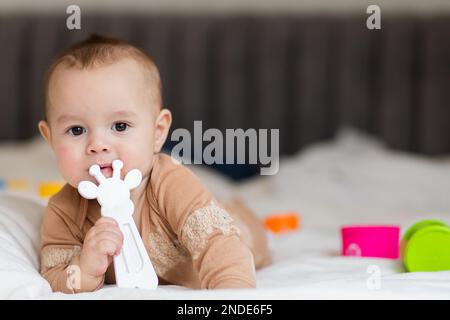
[{"label": "white pillow at the left edge, beside the baby's sleeve", "polygon": [[0,299],[37,298],[52,292],[39,274],[43,209],[37,199],[0,194]]}]

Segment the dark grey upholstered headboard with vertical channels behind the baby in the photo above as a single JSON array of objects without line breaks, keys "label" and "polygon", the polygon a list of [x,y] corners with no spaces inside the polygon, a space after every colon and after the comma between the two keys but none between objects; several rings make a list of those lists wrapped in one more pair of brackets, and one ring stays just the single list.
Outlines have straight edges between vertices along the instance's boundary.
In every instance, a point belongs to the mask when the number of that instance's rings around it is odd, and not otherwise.
[{"label": "dark grey upholstered headboard with vertical channels behind the baby", "polygon": [[350,124],[392,147],[450,152],[450,17],[0,16],[0,140],[37,134],[42,76],[92,32],[159,65],[174,128],[279,128],[281,153]]}]

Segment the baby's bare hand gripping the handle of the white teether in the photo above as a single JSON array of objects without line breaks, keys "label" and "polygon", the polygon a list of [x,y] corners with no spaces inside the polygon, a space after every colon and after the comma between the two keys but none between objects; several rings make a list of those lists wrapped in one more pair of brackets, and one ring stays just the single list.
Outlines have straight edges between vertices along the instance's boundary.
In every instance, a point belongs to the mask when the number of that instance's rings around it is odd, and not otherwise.
[{"label": "baby's bare hand gripping the handle of the white teether", "polygon": [[108,217],[98,219],[84,239],[80,255],[82,273],[94,278],[103,276],[122,244],[123,234],[117,222]]}]

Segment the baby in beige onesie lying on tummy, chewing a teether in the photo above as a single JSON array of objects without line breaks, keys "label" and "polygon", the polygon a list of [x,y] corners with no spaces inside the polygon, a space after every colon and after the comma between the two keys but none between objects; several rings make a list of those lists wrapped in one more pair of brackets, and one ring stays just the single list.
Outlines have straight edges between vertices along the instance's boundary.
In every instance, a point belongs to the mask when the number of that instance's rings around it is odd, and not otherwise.
[{"label": "baby in beige onesie lying on tummy, chewing a teether", "polygon": [[[158,69],[131,44],[93,35],[58,56],[45,79],[39,131],[56,154],[67,184],[49,199],[41,227],[41,274],[53,291],[94,291],[115,283],[113,257],[123,235],[101,217],[78,184],[106,178],[112,161],[142,183],[131,192],[133,218],[160,284],[190,288],[254,288],[255,267],[270,263],[265,230],[242,203],[220,204],[183,165],[160,153],[172,116],[163,108]],[[79,270],[78,286],[68,285]]]}]

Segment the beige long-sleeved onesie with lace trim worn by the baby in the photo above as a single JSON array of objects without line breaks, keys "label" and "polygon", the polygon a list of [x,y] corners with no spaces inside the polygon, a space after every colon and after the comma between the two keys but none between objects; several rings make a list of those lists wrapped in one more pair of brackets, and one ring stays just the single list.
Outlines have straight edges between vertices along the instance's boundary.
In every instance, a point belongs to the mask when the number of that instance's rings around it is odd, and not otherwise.
[{"label": "beige long-sleeved onesie with lace trim worn by the baby", "polygon": [[[168,155],[155,156],[136,212],[160,284],[251,288],[255,267],[270,263],[265,230],[254,213],[239,202],[220,204]],[[50,198],[41,227],[41,274],[53,291],[74,292],[67,286],[67,268],[100,217],[98,202],[82,198],[68,184]],[[104,283],[115,283],[113,267]]]}]

